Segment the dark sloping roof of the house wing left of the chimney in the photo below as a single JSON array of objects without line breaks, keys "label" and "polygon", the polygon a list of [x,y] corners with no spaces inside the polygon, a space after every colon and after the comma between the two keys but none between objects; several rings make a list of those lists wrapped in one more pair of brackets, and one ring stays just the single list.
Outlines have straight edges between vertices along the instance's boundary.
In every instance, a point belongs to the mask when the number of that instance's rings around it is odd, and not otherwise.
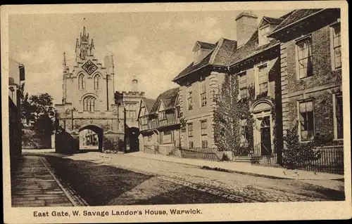
[{"label": "dark sloping roof of the house wing left of the chimney", "polygon": [[180,74],[178,74],[172,81],[186,77],[192,72],[200,70],[208,65],[227,66],[228,62],[230,61],[230,55],[232,51],[234,51],[234,49],[237,47],[237,41],[220,38],[220,40],[214,45],[215,48],[213,48],[213,50],[210,51],[208,55],[206,55],[199,63],[194,65],[194,62],[191,62],[191,64],[189,64],[182,72],[180,72]]}]

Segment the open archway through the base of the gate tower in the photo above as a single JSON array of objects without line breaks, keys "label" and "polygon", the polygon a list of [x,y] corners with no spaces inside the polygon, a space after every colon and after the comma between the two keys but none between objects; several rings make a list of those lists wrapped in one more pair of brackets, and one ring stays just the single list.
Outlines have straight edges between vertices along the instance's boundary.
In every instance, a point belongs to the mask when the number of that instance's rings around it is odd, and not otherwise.
[{"label": "open archway through the base of the gate tower", "polygon": [[103,130],[88,125],[80,129],[80,151],[103,151]]}]

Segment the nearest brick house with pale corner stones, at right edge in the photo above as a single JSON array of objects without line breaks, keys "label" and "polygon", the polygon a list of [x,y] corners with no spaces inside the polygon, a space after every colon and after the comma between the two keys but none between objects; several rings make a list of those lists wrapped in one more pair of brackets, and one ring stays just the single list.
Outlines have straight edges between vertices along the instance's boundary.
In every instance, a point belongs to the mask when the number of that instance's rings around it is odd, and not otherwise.
[{"label": "nearest brick house with pale corner stones, at right edge", "polygon": [[298,9],[269,35],[280,41],[283,131],[343,144],[341,25],[337,8]]}]

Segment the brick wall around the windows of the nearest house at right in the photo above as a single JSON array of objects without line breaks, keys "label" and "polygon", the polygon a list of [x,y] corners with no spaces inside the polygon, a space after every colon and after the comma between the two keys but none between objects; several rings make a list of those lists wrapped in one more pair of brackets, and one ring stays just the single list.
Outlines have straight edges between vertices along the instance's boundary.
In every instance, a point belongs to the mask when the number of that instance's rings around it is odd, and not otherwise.
[{"label": "brick wall around the windows of the nearest house at right", "polygon": [[[313,76],[298,79],[296,75],[296,39],[311,35]],[[287,37],[281,49],[282,117],[284,135],[298,121],[297,101],[314,100],[315,134],[334,136],[333,93],[341,91],[341,70],[332,70],[330,27],[310,32],[296,32]]]}]

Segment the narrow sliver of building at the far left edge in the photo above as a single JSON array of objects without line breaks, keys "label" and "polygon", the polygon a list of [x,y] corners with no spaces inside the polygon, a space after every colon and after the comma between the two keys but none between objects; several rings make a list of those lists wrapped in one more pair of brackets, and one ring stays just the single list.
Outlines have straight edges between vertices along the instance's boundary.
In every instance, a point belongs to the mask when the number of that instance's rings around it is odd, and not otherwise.
[{"label": "narrow sliver of building at the far left edge", "polygon": [[20,116],[20,85],[25,81],[25,66],[9,58],[8,61],[8,135],[11,167],[16,166],[22,155],[22,121]]}]

